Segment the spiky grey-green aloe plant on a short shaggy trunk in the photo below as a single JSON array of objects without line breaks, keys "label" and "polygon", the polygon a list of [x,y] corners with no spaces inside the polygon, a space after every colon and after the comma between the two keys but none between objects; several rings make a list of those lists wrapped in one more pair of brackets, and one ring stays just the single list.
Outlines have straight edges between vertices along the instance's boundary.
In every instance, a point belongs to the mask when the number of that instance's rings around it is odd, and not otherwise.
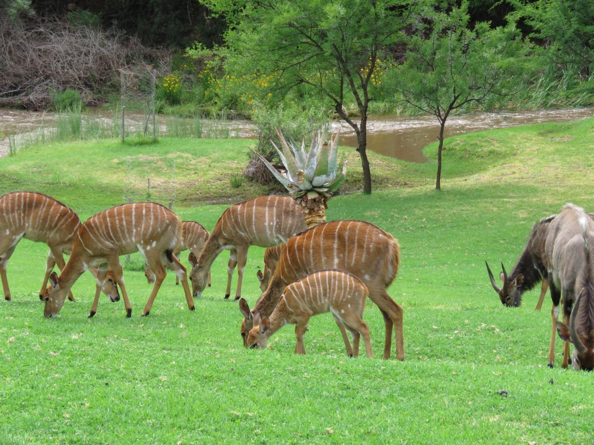
[{"label": "spiky grey-green aloe plant on a short shaggy trunk", "polygon": [[309,151],[305,152],[305,140],[301,145],[287,142],[282,132],[277,130],[282,150],[271,142],[285,166],[282,173],[254,151],[274,177],[289,190],[289,195],[304,209],[305,224],[308,227],[326,222],[326,202],[346,177],[346,160],[342,164],[342,170],[338,170],[338,134],[332,135],[330,146],[325,140],[326,134],[326,128],[314,132]]}]

